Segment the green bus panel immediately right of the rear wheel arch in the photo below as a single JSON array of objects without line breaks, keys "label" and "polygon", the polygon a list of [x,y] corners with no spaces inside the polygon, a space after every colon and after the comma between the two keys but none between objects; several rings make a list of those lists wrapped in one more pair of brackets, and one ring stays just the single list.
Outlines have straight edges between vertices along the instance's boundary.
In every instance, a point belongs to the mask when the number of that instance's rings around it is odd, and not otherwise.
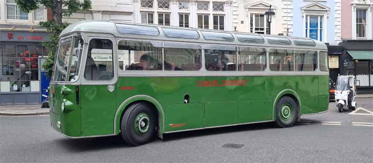
[{"label": "green bus panel immediately right of the rear wheel arch", "polygon": [[318,112],[318,76],[296,76],[296,91],[301,98],[301,114]]}]

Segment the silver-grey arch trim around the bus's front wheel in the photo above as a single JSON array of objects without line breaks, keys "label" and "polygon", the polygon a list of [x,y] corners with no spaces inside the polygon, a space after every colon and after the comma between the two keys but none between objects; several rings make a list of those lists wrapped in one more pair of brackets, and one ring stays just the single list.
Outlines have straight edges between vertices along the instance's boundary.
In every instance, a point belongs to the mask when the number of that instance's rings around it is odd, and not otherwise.
[{"label": "silver-grey arch trim around the bus's front wheel", "polygon": [[121,118],[124,115],[125,111],[132,105],[137,103],[145,103],[151,107],[156,113],[157,121],[157,136],[162,139],[162,133],[164,128],[164,112],[161,104],[159,104],[155,99],[148,95],[136,95],[129,97],[125,100],[117,109],[114,119],[114,134],[120,134],[120,124]]}]

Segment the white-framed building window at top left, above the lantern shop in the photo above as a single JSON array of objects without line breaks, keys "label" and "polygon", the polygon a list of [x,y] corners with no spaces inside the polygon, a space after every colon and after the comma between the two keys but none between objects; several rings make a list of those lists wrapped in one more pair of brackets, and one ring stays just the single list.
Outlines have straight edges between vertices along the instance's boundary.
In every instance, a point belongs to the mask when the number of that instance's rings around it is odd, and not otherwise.
[{"label": "white-framed building window at top left, above the lantern shop", "polygon": [[29,13],[26,13],[22,10],[20,10],[16,4],[15,0],[7,0],[7,19],[13,19],[13,20],[28,20],[29,19]]}]

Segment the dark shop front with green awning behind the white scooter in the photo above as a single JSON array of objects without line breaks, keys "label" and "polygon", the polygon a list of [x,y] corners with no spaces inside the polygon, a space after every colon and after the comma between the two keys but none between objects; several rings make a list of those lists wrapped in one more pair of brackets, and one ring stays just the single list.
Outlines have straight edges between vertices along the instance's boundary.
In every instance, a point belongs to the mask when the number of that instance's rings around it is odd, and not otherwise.
[{"label": "dark shop front with green awning behind the white scooter", "polygon": [[358,93],[373,93],[373,40],[343,42],[342,74],[354,75]]}]

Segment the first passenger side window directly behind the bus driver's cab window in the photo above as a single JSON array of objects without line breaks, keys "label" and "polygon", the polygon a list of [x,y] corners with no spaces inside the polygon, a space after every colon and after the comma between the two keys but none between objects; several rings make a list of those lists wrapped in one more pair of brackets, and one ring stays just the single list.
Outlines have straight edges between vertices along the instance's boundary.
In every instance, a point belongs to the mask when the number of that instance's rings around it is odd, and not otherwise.
[{"label": "first passenger side window directly behind the bus driver's cab window", "polygon": [[162,44],[119,41],[118,65],[121,70],[162,71]]}]

